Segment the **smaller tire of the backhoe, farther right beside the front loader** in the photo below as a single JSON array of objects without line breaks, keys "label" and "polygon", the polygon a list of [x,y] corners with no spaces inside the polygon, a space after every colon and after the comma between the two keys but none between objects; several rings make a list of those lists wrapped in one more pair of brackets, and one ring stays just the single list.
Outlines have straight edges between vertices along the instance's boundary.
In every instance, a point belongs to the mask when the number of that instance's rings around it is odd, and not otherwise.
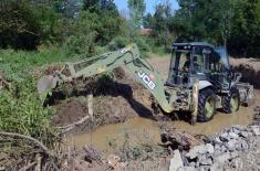
[{"label": "smaller tire of the backhoe, farther right beside the front loader", "polygon": [[237,88],[232,88],[230,93],[222,97],[222,108],[227,114],[232,114],[239,110],[240,95]]}]

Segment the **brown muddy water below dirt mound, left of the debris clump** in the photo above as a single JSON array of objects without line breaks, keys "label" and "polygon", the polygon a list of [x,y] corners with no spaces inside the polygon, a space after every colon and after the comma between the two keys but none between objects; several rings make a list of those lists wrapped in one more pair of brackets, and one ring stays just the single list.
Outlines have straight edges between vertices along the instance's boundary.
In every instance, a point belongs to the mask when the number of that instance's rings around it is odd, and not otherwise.
[{"label": "brown muddy water below dirt mound, left of the debris clump", "polygon": [[113,151],[113,147],[122,147],[124,142],[147,143],[159,142],[159,128],[150,119],[137,117],[123,124],[105,125],[92,132],[73,135],[69,141],[76,147],[93,145],[100,150]]}]

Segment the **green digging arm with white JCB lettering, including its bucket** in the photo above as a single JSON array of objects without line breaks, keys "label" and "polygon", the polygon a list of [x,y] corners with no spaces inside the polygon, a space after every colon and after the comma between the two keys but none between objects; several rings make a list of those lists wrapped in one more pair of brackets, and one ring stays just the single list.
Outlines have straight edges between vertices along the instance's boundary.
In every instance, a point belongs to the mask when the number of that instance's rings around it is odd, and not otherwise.
[{"label": "green digging arm with white JCB lettering, including its bucket", "polygon": [[173,111],[166,96],[163,77],[149,63],[141,58],[136,44],[77,63],[69,63],[67,66],[70,76],[65,76],[58,71],[53,75],[44,76],[39,81],[38,90],[40,95],[45,96],[52,88],[64,82],[71,82],[73,78],[91,77],[116,67],[127,67],[136,81],[150,92],[165,113]]}]

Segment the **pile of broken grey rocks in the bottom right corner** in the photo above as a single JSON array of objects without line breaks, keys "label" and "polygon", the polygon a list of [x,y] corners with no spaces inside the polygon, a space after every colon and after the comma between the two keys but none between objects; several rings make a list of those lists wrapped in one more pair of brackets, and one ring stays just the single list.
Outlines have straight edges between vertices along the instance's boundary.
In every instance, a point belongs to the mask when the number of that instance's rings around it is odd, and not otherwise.
[{"label": "pile of broken grey rocks in the bottom right corner", "polygon": [[260,170],[260,107],[256,111],[253,125],[232,126],[189,151],[175,150],[169,171]]}]

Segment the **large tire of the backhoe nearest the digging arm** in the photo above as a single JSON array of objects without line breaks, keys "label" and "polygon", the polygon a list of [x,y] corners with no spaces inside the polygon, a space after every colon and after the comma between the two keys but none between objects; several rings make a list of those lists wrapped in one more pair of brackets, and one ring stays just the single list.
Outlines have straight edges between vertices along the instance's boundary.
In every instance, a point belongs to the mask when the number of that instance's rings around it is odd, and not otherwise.
[{"label": "large tire of the backhoe nearest the digging arm", "polygon": [[206,88],[199,92],[197,121],[206,122],[212,119],[216,113],[216,95],[212,89]]}]

